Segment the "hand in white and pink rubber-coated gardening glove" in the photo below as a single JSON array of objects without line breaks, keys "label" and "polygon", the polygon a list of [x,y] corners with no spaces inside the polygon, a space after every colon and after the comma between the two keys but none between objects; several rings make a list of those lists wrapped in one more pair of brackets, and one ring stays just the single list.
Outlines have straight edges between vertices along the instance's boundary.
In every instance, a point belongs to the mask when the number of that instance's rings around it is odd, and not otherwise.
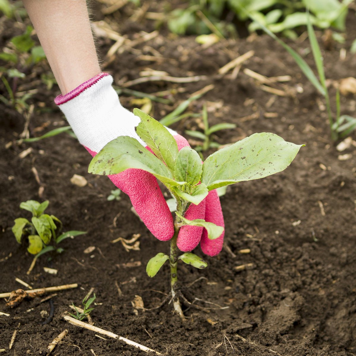
[{"label": "hand in white and pink rubber-coated gardening glove", "polygon": [[[135,126],[140,119],[122,107],[111,84],[111,75],[101,73],[70,93],[57,96],[54,100],[72,126],[79,142],[92,156],[117,136],[136,138],[143,147],[147,148],[145,142],[135,132]],[[178,150],[189,146],[188,141],[176,131],[169,128],[167,130],[176,139]],[[109,178],[117,188],[129,195],[137,214],[158,240],[167,241],[172,238],[174,232],[172,215],[152,174],[131,168],[113,174]],[[205,219],[224,226],[216,191],[209,192],[199,205],[191,204],[185,213],[185,218]],[[209,240],[203,227],[183,226],[177,237],[177,246],[181,251],[192,251],[200,241],[203,252],[215,256],[221,251],[223,239],[224,232],[218,239]]]}]

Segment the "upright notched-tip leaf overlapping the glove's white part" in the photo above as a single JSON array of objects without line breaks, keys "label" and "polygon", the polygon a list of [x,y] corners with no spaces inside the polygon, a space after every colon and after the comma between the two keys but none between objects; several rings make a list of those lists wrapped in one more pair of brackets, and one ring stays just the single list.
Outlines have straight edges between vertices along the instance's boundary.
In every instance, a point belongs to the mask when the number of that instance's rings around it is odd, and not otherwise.
[{"label": "upright notched-tip leaf overlapping the glove's white part", "polygon": [[133,109],[133,114],[140,117],[141,122],[136,127],[136,133],[147,143],[153,153],[166,163],[171,172],[174,171],[174,161],[178,156],[178,146],[174,137],[166,127],[139,109]]}]

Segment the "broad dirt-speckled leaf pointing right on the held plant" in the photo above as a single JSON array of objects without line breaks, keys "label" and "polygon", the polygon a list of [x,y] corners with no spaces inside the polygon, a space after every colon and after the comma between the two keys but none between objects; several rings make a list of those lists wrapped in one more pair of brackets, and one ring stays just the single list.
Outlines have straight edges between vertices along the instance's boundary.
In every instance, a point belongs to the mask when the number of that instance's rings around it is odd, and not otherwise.
[{"label": "broad dirt-speckled leaf pointing right on the held plant", "polygon": [[286,169],[302,146],[284,141],[274,133],[254,133],[206,158],[201,182],[213,190],[270,176]]}]

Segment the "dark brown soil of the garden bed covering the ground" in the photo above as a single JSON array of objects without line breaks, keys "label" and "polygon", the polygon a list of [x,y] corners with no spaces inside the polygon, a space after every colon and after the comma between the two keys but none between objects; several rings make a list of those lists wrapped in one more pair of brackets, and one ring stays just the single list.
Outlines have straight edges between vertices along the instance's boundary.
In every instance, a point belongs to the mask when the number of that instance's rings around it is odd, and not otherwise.
[{"label": "dark brown soil of the garden bed covering the ground", "polygon": [[[144,26],[152,24],[142,22],[126,26],[130,31],[119,30],[132,39],[136,31],[150,29]],[[354,75],[356,57],[349,51],[344,61],[339,56],[340,49],[349,48],[354,37],[354,30],[350,29],[344,46],[335,43],[330,51],[323,51],[328,78],[337,80]],[[3,45],[7,39],[2,37]],[[103,57],[112,43],[99,40]],[[135,48],[147,54],[147,46],[178,64],[168,60],[146,62],[137,58],[136,51],[126,51],[106,68],[114,74],[116,83],[138,78],[139,72],[147,67],[165,70],[176,77],[207,75],[199,83],[156,82],[132,89],[153,93],[186,88],[186,93],[174,95],[177,102],[187,98],[188,93],[214,84],[214,89],[194,102],[190,110],[200,112],[208,101],[211,124],[226,121],[237,125],[234,130],[219,132],[218,142],[230,143],[254,132],[268,131],[288,141],[305,143],[306,147],[286,171],[263,180],[239,183],[221,197],[227,248],[218,257],[205,257],[208,262],[205,270],[179,266],[179,279],[187,299],[195,300],[199,307],[212,309],[184,306],[187,321],[182,323],[167,303],[147,311],[135,310],[131,303],[139,295],[145,308],[152,308],[163,300],[160,292],[169,292],[167,266],[155,278],[149,278],[145,272],[147,261],[157,252],[166,251],[168,244],[157,241],[133,215],[126,195],[122,194],[120,201],[106,200],[114,189],[112,183],[106,177],[87,173],[90,156],[73,138],[62,134],[17,145],[14,140],[23,130],[23,118],[19,119],[2,105],[0,292],[20,288],[15,277],[33,288],[80,284],[80,288],[58,292],[53,298],[53,319],[45,325],[40,312],[49,312],[49,302],[37,305],[40,298],[25,300],[11,309],[1,301],[0,311],[10,314],[0,316],[0,349],[7,350],[4,355],[14,352],[43,355],[48,344],[64,329],[69,333],[56,348],[56,355],[144,355],[120,341],[100,339],[95,333],[63,320],[69,305],[72,302],[80,305],[91,287],[97,295],[98,305],[91,314],[96,326],[167,355],[356,354],[355,141],[345,151],[336,150],[330,140],[326,113],[318,105],[320,96],[293,60],[269,37],[221,41],[204,49],[194,37],[160,34]],[[304,53],[308,42],[293,46]],[[216,75],[220,67],[251,49],[255,55],[244,63],[236,79]],[[312,65],[311,54],[305,58]],[[47,66],[42,66],[33,69],[38,73],[35,79],[40,78],[41,71],[48,71]],[[261,90],[243,72],[245,68],[268,77],[291,75],[292,80],[286,84],[292,88],[293,96],[273,96]],[[34,79],[26,78],[25,83],[26,80],[30,83]],[[38,93],[31,99],[36,105],[30,121],[31,136],[65,124],[59,110],[51,104],[58,89],[47,91],[45,85],[36,85]],[[297,93],[298,87],[303,88],[302,93]],[[331,96],[334,94],[331,88]],[[130,99],[121,97],[122,103],[132,109],[135,105],[130,104]],[[45,102],[53,111],[44,112],[39,102]],[[341,98],[343,114],[354,115],[355,106],[353,96]],[[154,103],[153,116],[160,119],[171,110],[170,106]],[[183,134],[186,128],[198,129],[193,119],[173,127]],[[14,142],[12,146],[5,148],[10,141]],[[19,153],[28,147],[32,147],[32,152],[21,159]],[[349,158],[340,160],[339,156],[345,154]],[[38,196],[39,185],[32,167],[37,169],[44,187],[42,197]],[[84,176],[88,185],[80,188],[71,184],[73,174]],[[64,231],[88,231],[87,235],[63,242],[66,251],[53,255],[51,261],[46,256],[39,258],[29,276],[26,271],[32,258],[16,243],[11,232],[15,218],[29,218],[19,208],[20,202],[28,199],[48,199],[48,212],[63,221]],[[126,252],[120,242],[110,242],[117,237],[130,239],[133,234],[141,234],[140,251]],[[95,250],[84,253],[89,246],[95,246]],[[239,253],[247,248],[250,253]],[[203,256],[199,248],[195,252]],[[137,267],[125,268],[129,262],[139,263]],[[250,265],[243,271],[235,269],[244,264]],[[57,276],[45,273],[44,266],[58,269]],[[216,304],[228,308],[215,309]],[[30,308],[33,310],[26,312]],[[15,329],[16,340],[12,350],[8,350]]]}]

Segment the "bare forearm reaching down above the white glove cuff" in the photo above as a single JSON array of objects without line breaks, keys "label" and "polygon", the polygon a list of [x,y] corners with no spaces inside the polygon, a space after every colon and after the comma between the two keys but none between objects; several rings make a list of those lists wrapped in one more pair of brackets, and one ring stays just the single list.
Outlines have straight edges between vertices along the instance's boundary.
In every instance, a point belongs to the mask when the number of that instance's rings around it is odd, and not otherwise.
[{"label": "bare forearm reaching down above the white glove cuff", "polygon": [[85,0],[23,0],[62,94],[100,73]]}]

